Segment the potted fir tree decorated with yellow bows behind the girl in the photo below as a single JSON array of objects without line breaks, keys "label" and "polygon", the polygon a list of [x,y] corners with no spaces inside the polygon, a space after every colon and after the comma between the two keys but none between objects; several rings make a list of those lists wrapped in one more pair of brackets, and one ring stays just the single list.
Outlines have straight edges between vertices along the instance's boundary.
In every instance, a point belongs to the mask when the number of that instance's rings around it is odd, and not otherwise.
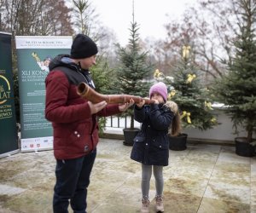
[{"label": "potted fir tree decorated with yellow bows behind the girl", "polygon": [[[183,128],[211,129],[218,124],[212,113],[208,91],[202,86],[198,71],[190,54],[190,46],[184,45],[181,60],[175,67],[173,78],[156,70],[154,78],[169,85],[168,100],[175,101],[180,110]],[[170,135],[170,149],[186,149],[186,134]]]}]

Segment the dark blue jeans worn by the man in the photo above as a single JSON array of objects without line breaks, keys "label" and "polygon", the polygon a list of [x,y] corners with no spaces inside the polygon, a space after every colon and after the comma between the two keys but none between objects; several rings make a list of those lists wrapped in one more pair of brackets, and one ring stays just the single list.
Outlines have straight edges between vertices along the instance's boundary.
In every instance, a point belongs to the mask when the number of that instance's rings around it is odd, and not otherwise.
[{"label": "dark blue jeans worn by the man", "polygon": [[67,213],[69,200],[74,213],[86,213],[87,187],[95,158],[96,150],[81,158],[56,160],[55,213]]}]

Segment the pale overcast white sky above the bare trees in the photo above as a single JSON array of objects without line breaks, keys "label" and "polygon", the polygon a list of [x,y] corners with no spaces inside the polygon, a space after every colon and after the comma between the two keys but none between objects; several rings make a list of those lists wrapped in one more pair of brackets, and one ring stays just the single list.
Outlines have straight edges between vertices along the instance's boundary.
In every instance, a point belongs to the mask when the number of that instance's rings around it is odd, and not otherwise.
[{"label": "pale overcast white sky above the bare trees", "polygon": [[[134,0],[135,21],[139,25],[140,37],[160,39],[166,37],[164,24],[181,17],[196,0]],[[99,14],[99,20],[125,45],[130,37],[132,0],[91,0]]]}]

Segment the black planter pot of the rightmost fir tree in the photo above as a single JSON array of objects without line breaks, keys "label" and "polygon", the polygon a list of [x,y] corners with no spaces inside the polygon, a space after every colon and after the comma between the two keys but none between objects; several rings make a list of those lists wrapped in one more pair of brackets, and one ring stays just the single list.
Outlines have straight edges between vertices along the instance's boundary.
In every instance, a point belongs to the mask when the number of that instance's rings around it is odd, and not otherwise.
[{"label": "black planter pot of the rightmost fir tree", "polygon": [[255,146],[248,143],[245,137],[236,137],[236,154],[243,157],[253,157],[256,155]]}]

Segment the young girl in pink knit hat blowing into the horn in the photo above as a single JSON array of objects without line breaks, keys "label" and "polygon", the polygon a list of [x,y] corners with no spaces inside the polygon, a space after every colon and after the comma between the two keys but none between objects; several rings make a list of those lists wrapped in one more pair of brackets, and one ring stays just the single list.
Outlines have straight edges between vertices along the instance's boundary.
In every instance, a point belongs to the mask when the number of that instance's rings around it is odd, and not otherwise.
[{"label": "young girl in pink knit hat blowing into the horn", "polygon": [[149,212],[149,186],[152,174],[155,179],[156,212],[164,211],[163,204],[163,166],[168,165],[169,158],[169,134],[178,135],[180,132],[180,117],[177,112],[177,104],[167,100],[166,84],[155,83],[149,89],[149,97],[154,104],[145,105],[145,101],[134,107],[135,120],[142,124],[140,132],[134,139],[131,150],[131,159],[142,163],[142,210]]}]

